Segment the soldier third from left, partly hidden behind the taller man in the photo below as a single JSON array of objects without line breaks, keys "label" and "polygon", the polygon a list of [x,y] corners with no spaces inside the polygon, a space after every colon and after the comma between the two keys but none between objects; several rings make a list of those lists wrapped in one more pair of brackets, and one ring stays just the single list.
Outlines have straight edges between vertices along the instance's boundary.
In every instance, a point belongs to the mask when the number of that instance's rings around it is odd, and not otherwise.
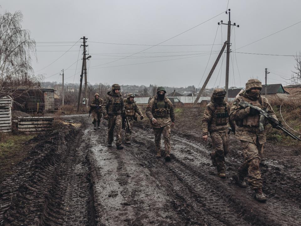
[{"label": "soldier third from left, partly hidden behind the taller man", "polygon": [[140,120],[144,119],[142,112],[140,111],[138,105],[134,101],[135,94],[127,94],[127,97],[124,101],[124,116],[127,119],[126,127],[129,126],[127,130],[125,130],[125,143],[131,144],[130,138],[132,134],[132,128],[134,124],[134,120],[137,121],[137,116],[140,116]]}]

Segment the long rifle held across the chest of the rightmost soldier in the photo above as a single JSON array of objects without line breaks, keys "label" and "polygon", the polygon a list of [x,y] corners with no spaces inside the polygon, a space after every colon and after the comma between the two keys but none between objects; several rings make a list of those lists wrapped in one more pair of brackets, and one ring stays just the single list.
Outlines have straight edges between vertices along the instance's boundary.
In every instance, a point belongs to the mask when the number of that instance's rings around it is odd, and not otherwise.
[{"label": "long rifle held across the chest of the rightmost soldier", "polygon": [[301,141],[300,137],[297,137],[297,136],[293,135],[291,132],[289,132],[287,129],[285,129],[283,127],[283,125],[281,124],[281,121],[278,121],[277,119],[273,118],[270,114],[268,114],[266,112],[266,109],[261,109],[260,107],[251,105],[251,104],[249,104],[248,102],[246,102],[244,100],[240,100],[238,105],[240,105],[240,107],[242,107],[242,108],[250,107],[250,108],[256,109],[259,112],[259,114],[260,114],[259,130],[260,131],[264,130],[264,119],[267,118],[268,121],[272,124],[272,126],[274,128],[282,130],[285,134],[292,137],[294,140]]}]

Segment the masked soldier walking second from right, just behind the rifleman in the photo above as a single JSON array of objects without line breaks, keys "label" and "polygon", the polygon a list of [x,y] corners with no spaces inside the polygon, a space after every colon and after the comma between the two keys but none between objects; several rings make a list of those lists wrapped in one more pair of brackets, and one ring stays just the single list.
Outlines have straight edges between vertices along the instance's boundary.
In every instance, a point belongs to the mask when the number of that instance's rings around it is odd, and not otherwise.
[{"label": "masked soldier walking second from right, just behind the rifleman", "polygon": [[210,156],[220,178],[226,178],[225,156],[229,152],[229,122],[232,131],[235,132],[235,122],[229,120],[230,106],[224,100],[225,95],[224,89],[214,89],[203,118],[203,140],[207,141],[209,132],[215,148]]}]

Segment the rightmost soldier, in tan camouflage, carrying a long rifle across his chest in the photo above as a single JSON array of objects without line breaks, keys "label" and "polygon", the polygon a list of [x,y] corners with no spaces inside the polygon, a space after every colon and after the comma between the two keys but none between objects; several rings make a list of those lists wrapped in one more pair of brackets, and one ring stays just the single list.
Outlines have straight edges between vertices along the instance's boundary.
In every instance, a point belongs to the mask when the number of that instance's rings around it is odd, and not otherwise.
[{"label": "rightmost soldier, in tan camouflage, carrying a long rifle across his chest", "polygon": [[[230,119],[235,120],[236,137],[241,142],[244,162],[238,168],[237,175],[233,179],[241,187],[246,187],[244,178],[248,175],[248,181],[255,191],[255,198],[260,202],[267,200],[262,193],[262,179],[259,164],[263,156],[263,145],[266,142],[266,130],[260,130],[260,114],[256,109],[239,105],[240,100],[244,100],[254,106],[265,110],[277,120],[269,101],[260,95],[262,89],[261,82],[257,79],[250,79],[246,83],[246,90],[240,94],[233,102],[230,110]],[[268,121],[265,121],[265,125]],[[273,124],[272,124],[273,125]]]}]

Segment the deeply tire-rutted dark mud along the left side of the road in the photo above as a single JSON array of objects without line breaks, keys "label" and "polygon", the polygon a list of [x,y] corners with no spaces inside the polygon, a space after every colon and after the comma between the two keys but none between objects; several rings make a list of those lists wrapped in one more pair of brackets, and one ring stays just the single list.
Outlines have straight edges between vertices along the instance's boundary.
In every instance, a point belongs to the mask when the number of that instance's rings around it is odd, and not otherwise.
[{"label": "deeply tire-rutted dark mud along the left side of the road", "polygon": [[3,182],[0,225],[95,225],[83,132],[65,129],[34,147]]}]

